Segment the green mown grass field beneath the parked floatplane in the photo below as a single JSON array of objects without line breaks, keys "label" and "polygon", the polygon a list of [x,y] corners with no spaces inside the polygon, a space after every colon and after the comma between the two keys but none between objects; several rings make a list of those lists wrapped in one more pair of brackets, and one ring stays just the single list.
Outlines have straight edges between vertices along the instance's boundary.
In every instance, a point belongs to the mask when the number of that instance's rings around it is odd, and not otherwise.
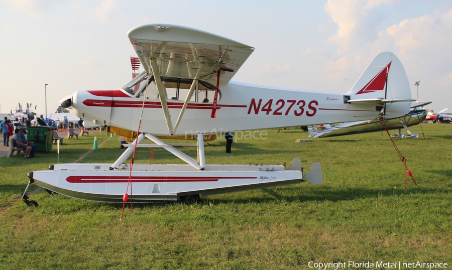
[{"label": "green mown grass field beneath the parked floatplane", "polygon": [[[322,184],[209,196],[195,205],[134,204],[121,222],[121,204],[42,189],[30,195],[39,207],[20,200],[27,173],[58,163],[56,149],[32,160],[0,158],[0,268],[309,269],[310,261],[450,267],[452,125],[422,127],[425,139],[417,125],[410,130],[418,140],[396,141],[417,188],[408,179],[404,190],[404,166],[386,133],[296,144],[306,132],[270,129],[266,140],[238,140],[228,155],[224,140],[211,142],[206,162],[290,164],[300,157],[304,168],[321,163]],[[112,163],[121,155],[117,137],[97,138],[105,142],[80,162]],[[92,149],[92,140],[65,140],[60,163]],[[195,148],[180,149],[196,157]],[[138,149],[136,162],[149,163],[149,152]],[[155,156],[156,163],[181,163],[162,149]]]}]

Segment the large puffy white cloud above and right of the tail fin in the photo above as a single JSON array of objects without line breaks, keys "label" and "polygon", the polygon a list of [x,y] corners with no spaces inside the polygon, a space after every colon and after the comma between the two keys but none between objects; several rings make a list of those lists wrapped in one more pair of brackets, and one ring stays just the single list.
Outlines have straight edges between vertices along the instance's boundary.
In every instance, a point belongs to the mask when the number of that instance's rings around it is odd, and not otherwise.
[{"label": "large puffy white cloud above and right of the tail fin", "polygon": [[[392,51],[409,71],[409,79],[420,79],[430,88],[452,85],[452,50],[449,48],[452,35],[448,34],[452,33],[452,10],[402,18],[381,30],[383,19],[379,19],[378,10],[381,5],[392,4],[389,0],[327,1],[324,9],[337,25],[337,31],[328,37],[326,44],[310,50],[320,56],[322,48],[328,45],[336,49],[329,59],[323,55],[329,74],[326,79],[347,77],[345,74],[350,70],[361,72],[362,59],[370,61],[379,52]],[[440,88],[435,90],[440,91]]]}]

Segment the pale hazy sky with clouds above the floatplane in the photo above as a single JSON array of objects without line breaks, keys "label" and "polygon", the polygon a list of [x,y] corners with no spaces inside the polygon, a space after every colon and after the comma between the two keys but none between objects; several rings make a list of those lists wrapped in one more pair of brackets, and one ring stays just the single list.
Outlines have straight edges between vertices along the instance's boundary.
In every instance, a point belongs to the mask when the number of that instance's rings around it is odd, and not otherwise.
[{"label": "pale hazy sky with clouds above the floatplane", "polygon": [[283,88],[345,93],[391,51],[413,99],[452,112],[450,0],[0,0],[0,113],[31,103],[44,114],[47,97],[50,114],[77,90],[121,88],[136,56],[127,32],[143,24],[252,46],[232,80]]}]

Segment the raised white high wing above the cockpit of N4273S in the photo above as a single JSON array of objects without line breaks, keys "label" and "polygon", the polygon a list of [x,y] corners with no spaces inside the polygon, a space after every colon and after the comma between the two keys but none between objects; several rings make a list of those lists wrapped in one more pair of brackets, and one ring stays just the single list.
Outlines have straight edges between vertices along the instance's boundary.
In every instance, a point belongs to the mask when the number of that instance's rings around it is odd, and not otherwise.
[{"label": "raised white high wing above the cockpit of N4273S", "polygon": [[[154,58],[160,76],[227,84],[254,51],[253,47],[208,32],[176,25],[143,25],[127,34],[146,72]],[[201,64],[203,64],[201,66]]]}]

